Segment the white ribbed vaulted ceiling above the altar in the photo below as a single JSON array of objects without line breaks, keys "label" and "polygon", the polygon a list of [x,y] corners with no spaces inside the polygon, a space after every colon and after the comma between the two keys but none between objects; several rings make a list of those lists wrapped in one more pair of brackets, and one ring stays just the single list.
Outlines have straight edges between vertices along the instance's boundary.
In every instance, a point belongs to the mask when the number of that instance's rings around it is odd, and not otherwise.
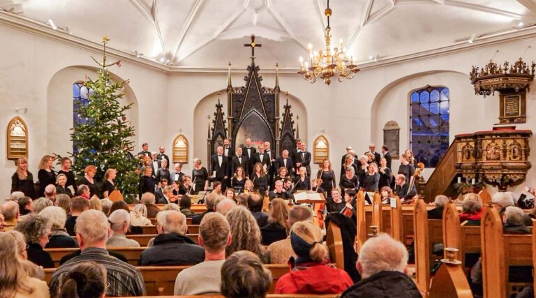
[{"label": "white ribbed vaulted ceiling above the altar", "polygon": [[[252,33],[258,64],[295,68],[307,45],[323,47],[326,0],[0,0],[0,8],[57,30],[142,54],[163,64],[225,67],[248,63]],[[475,43],[536,23],[536,0],[332,0],[333,40],[357,61],[455,43]],[[52,30],[52,29],[51,29]],[[267,65],[269,64],[269,65]]]}]

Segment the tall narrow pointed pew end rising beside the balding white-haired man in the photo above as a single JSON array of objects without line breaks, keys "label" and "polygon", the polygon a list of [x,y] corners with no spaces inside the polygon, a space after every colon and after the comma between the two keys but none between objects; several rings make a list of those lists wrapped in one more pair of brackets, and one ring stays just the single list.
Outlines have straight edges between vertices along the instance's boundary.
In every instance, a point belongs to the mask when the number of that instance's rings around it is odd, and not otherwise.
[{"label": "tall narrow pointed pew end rising beside the balding white-haired man", "polygon": [[428,219],[428,210],[424,200],[415,200],[413,213],[415,243],[415,271],[417,288],[423,297],[428,297],[430,289],[430,270],[435,260],[432,244],[442,242],[442,221]]}]

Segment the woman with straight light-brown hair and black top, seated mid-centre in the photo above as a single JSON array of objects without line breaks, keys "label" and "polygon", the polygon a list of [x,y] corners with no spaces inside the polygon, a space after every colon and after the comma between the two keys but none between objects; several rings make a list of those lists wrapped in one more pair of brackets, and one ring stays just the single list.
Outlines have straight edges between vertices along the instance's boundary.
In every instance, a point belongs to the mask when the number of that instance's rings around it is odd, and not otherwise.
[{"label": "woman with straight light-brown hair and black top, seated mid-centre", "polygon": [[271,200],[268,223],[260,228],[262,245],[285,239],[289,228],[287,202],[282,199]]}]

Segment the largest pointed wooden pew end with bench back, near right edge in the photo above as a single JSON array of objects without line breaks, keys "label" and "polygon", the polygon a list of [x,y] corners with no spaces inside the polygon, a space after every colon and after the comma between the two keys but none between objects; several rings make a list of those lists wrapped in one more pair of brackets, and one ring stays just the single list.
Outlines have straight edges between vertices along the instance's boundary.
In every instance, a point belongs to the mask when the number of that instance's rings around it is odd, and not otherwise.
[{"label": "largest pointed wooden pew end with bench back, near right edge", "polygon": [[510,297],[514,288],[532,285],[511,282],[509,267],[533,266],[533,235],[502,234],[502,220],[490,206],[484,207],[481,234],[484,297]]}]

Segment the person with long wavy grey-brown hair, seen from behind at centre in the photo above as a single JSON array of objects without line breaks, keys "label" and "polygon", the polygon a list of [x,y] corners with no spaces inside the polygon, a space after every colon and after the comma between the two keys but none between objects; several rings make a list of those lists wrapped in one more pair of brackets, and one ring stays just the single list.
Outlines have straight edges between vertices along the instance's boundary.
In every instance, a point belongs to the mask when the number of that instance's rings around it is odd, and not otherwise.
[{"label": "person with long wavy grey-brown hair, seen from behind at centre", "polygon": [[267,255],[260,244],[260,229],[248,209],[237,206],[225,216],[231,227],[232,241],[225,252],[231,255],[237,251],[251,251],[267,263]]}]

